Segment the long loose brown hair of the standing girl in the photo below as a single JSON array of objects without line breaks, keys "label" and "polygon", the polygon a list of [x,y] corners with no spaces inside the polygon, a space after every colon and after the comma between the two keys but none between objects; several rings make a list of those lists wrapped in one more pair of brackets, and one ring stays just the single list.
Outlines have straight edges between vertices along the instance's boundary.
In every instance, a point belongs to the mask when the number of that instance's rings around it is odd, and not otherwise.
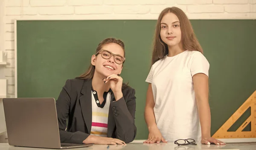
[{"label": "long loose brown hair of the standing girl", "polygon": [[161,30],[161,20],[163,16],[167,13],[174,13],[180,20],[180,30],[181,30],[181,42],[184,49],[188,49],[190,51],[199,51],[203,53],[203,49],[198,42],[198,39],[195,36],[192,25],[186,16],[186,14],[177,7],[169,7],[164,9],[157,20],[156,30],[154,34],[154,45],[152,52],[152,60],[151,65],[153,65],[156,61],[164,58],[165,55],[168,54],[168,46],[160,37]]}]

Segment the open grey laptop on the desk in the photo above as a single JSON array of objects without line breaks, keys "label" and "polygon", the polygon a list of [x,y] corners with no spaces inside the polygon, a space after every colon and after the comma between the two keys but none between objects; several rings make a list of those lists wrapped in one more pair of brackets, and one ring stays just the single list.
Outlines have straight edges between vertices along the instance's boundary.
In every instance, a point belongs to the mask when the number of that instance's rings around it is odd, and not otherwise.
[{"label": "open grey laptop on the desk", "polygon": [[9,145],[40,148],[89,147],[61,143],[54,98],[3,98]]}]

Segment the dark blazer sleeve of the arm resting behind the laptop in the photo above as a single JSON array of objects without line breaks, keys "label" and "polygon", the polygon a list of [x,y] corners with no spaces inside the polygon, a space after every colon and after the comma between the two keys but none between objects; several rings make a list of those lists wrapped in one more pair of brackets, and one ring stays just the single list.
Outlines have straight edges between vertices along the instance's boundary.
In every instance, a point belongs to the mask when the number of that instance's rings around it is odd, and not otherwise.
[{"label": "dark blazer sleeve of the arm resting behind the laptop", "polygon": [[62,88],[60,95],[56,101],[56,110],[58,116],[58,127],[60,133],[61,143],[76,143],[82,144],[83,141],[89,136],[87,133],[81,131],[67,132],[67,118],[70,113],[70,101],[71,101],[71,81],[67,80],[66,84]]}]

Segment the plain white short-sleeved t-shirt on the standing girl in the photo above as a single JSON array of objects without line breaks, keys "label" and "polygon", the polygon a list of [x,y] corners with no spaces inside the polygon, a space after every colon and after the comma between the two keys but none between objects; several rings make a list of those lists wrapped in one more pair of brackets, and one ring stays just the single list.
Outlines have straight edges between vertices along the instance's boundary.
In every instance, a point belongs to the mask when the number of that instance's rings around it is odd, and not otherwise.
[{"label": "plain white short-sleeved t-shirt on the standing girl", "polygon": [[209,62],[201,52],[186,50],[165,56],[150,69],[146,82],[152,84],[157,127],[168,141],[201,140],[201,126],[192,76],[209,72]]}]

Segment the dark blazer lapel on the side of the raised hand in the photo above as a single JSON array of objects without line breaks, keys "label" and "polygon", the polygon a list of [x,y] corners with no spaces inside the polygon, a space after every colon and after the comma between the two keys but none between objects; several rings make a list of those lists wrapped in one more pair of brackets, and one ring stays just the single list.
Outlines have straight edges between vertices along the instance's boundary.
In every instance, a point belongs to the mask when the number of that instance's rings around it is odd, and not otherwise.
[{"label": "dark blazer lapel on the side of the raised hand", "polygon": [[[111,100],[110,102],[115,101],[115,96],[113,94],[113,92],[111,93]],[[108,112],[108,133],[107,136],[108,137],[112,137],[114,128],[116,127],[116,122],[115,122],[115,118],[114,118],[114,114],[112,111],[111,106],[109,106],[109,112]]]}]

